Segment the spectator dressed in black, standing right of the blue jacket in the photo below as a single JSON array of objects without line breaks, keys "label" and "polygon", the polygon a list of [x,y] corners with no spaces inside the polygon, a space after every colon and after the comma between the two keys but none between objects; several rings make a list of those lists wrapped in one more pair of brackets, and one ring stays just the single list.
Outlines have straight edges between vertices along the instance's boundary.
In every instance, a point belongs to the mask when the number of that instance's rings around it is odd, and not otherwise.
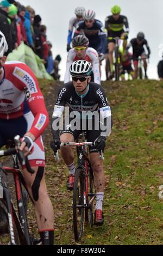
[{"label": "spectator dressed in black, standing right of the blue jacket", "polygon": [[43,44],[41,39],[40,26],[41,26],[41,17],[40,15],[35,15],[34,22],[33,22],[35,52],[41,59],[43,59]]}]

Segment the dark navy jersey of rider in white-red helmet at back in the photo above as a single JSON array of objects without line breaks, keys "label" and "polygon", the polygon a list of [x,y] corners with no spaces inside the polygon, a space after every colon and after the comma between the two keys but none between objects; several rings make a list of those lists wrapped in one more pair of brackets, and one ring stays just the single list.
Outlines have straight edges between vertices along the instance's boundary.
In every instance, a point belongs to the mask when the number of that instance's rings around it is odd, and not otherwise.
[{"label": "dark navy jersey of rider in white-red helmet at back", "polygon": [[74,36],[79,33],[84,33],[89,39],[89,47],[94,48],[97,52],[105,53],[107,38],[101,21],[95,20],[91,28],[86,27],[84,21],[79,21]]}]

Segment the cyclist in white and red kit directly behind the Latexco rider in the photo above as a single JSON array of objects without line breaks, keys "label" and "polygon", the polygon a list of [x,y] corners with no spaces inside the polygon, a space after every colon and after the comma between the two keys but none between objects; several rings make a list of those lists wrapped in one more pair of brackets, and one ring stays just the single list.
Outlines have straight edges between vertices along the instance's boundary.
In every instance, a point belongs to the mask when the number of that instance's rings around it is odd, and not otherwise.
[{"label": "cyclist in white and red kit directly behind the Latexco rider", "polygon": [[76,60],[86,60],[92,64],[92,82],[101,84],[98,53],[92,47],[88,47],[89,40],[85,35],[77,35],[72,41],[73,48],[68,52],[64,83],[70,82],[70,66]]}]

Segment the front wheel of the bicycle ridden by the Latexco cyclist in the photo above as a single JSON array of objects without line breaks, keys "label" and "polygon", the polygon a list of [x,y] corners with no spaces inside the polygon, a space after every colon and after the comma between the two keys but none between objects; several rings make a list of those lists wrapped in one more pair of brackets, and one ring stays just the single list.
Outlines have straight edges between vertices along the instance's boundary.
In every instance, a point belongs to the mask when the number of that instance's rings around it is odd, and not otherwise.
[{"label": "front wheel of the bicycle ridden by the Latexco cyclist", "polygon": [[84,194],[83,186],[84,177],[83,170],[76,169],[76,177],[73,187],[73,231],[74,238],[79,241],[83,235],[84,230]]}]

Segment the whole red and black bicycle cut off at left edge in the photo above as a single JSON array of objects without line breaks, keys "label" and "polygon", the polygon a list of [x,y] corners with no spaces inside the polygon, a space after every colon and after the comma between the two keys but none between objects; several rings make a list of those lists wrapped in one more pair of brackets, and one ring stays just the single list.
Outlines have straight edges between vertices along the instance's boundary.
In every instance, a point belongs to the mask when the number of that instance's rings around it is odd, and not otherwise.
[{"label": "whole red and black bicycle cut off at left edge", "polygon": [[[26,183],[18,166],[18,161],[22,166],[26,166],[29,173],[33,174],[34,170],[30,167],[28,158],[25,158],[23,152],[20,150],[20,136],[16,136],[14,141],[17,146],[17,151],[15,148],[0,151],[0,156],[12,155],[12,159],[14,161],[13,168],[4,167],[2,163],[0,163],[0,200],[4,205],[4,215],[8,220],[10,245],[32,245],[33,243],[30,239],[26,216],[26,202],[24,202],[24,193],[22,192],[22,184],[24,188],[26,188]],[[5,181],[5,175],[8,173],[13,174],[14,176],[17,211],[12,202],[9,187]]]}]

